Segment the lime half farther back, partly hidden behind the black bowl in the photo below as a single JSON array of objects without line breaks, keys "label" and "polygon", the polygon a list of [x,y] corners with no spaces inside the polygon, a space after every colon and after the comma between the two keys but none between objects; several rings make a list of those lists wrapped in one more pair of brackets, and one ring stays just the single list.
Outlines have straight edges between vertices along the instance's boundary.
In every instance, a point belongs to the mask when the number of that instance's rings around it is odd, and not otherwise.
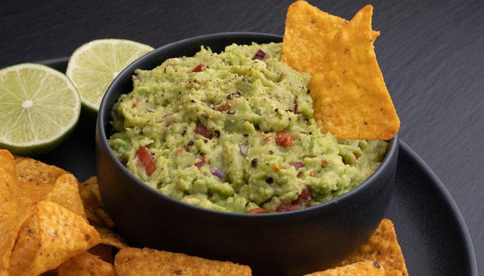
[{"label": "lime half farther back, partly hidden behind the black bowl", "polygon": [[151,50],[151,46],[125,39],[93,40],[74,51],[66,75],[77,87],[82,105],[97,113],[113,79]]}]

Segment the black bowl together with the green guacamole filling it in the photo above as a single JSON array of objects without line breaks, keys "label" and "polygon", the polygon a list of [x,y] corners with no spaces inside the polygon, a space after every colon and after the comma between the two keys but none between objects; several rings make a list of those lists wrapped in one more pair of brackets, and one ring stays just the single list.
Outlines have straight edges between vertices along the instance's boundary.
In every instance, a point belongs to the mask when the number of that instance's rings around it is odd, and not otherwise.
[{"label": "black bowl together with the green guacamole filling it", "polygon": [[113,81],[97,119],[97,172],[129,242],[291,275],[336,264],[378,226],[398,138],[319,130],[310,75],[280,61],[281,41],[185,39]]}]

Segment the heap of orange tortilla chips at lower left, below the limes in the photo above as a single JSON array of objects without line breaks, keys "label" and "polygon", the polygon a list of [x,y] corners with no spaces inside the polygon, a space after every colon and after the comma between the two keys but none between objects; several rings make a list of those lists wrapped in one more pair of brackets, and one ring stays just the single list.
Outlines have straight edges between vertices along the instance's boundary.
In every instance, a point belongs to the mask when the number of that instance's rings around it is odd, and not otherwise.
[{"label": "heap of orange tortilla chips at lower left, below the limes", "polygon": [[0,275],[116,275],[113,247],[127,244],[96,182],[0,150]]}]

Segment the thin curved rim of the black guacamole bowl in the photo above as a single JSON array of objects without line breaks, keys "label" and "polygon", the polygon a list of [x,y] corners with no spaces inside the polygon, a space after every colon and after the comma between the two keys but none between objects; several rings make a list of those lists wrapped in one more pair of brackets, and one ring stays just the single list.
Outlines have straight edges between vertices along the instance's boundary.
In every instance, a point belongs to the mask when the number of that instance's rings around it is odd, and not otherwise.
[{"label": "thin curved rim of the black guacamole bowl", "polygon": [[[209,208],[203,208],[200,206],[195,206],[192,204],[185,203],[183,201],[180,201],[178,199],[174,199],[172,197],[169,197],[168,195],[165,195],[161,193],[160,191],[151,188],[145,182],[141,181],[137,177],[135,177],[129,170],[121,164],[121,162],[115,157],[113,150],[111,150],[111,147],[108,144],[108,138],[106,136],[106,126],[110,125],[111,121],[111,110],[113,108],[113,104],[109,105],[107,103],[107,98],[108,95],[111,95],[115,93],[116,86],[118,86],[118,83],[120,83],[120,79],[127,77],[125,75],[128,75],[131,77],[133,74],[134,70],[137,68],[140,68],[140,64],[146,63],[149,59],[152,57],[156,57],[158,55],[158,52],[163,52],[164,50],[168,48],[174,48],[180,45],[184,45],[185,43],[192,43],[194,41],[199,41],[199,40],[204,40],[204,39],[225,39],[225,38],[230,38],[230,37],[257,37],[259,39],[267,39],[271,40],[274,42],[281,42],[282,41],[282,36],[278,34],[268,34],[268,33],[263,33],[263,32],[218,32],[214,34],[203,34],[199,35],[196,37],[190,37],[186,39],[181,39],[179,41],[174,41],[171,43],[168,43],[164,46],[160,46],[159,48],[156,48],[155,50],[152,50],[151,52],[148,52],[147,54],[143,55],[142,57],[136,59],[136,61],[133,61],[127,68],[124,68],[120,72],[120,74],[115,77],[111,85],[107,88],[106,92],[104,93],[104,97],[102,98],[102,101],[100,103],[100,108],[99,108],[99,113],[97,115],[96,119],[96,128],[97,131],[99,132],[100,139],[96,139],[96,147],[102,146],[103,148],[106,149],[106,152],[108,152],[109,159],[114,162],[115,166],[118,166],[124,174],[129,177],[131,180],[131,183],[136,184],[140,186],[143,190],[145,190],[146,193],[151,193],[155,197],[160,197],[163,200],[170,201],[171,204],[180,204],[180,206],[183,206],[184,208],[191,209],[194,212],[197,213],[205,213],[205,215],[218,215],[218,216],[227,216],[227,217],[240,217],[241,219],[268,219],[270,217],[277,218],[277,217],[292,217],[292,216],[299,216],[303,214],[309,214],[313,212],[317,212],[319,209],[324,209],[327,208],[328,206],[332,206],[334,204],[337,204],[339,201],[345,201],[357,193],[361,193],[366,186],[370,186],[373,184],[373,182],[380,177],[384,173],[384,170],[387,168],[387,166],[390,166],[391,162],[391,157],[395,154],[398,154],[398,132],[397,134],[392,138],[387,141],[389,141],[389,148],[387,149],[387,153],[384,156],[384,159],[380,166],[373,172],[373,174],[366,179],[365,181],[362,182],[362,184],[358,185],[357,187],[353,188],[353,190],[348,191],[348,193],[345,193],[344,195],[340,195],[339,197],[336,197],[334,199],[331,199],[329,201],[323,202],[322,204],[317,204],[315,206],[310,206],[307,208],[302,208],[299,210],[292,210],[292,211],[287,211],[287,212],[281,212],[281,213],[264,213],[264,214],[249,214],[249,213],[232,213],[232,212],[226,212],[226,211],[221,211],[221,210],[212,210]],[[202,44],[200,44],[202,46]],[[158,65],[161,64],[163,61],[160,61],[157,63]],[[153,68],[151,68],[153,69]],[[150,70],[151,70],[150,69]],[[106,118],[106,119],[103,119]],[[101,145],[99,145],[101,143]],[[97,152],[97,151],[96,151]]]}]

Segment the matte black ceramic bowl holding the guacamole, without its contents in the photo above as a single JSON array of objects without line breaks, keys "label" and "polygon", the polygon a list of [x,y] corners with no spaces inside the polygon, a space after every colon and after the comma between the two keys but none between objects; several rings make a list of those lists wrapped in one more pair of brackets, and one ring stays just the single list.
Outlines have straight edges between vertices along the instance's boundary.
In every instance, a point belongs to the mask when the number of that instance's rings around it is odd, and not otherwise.
[{"label": "matte black ceramic bowl holding the guacamole, without its contents", "polygon": [[398,137],[382,165],[346,195],[318,206],[261,215],[223,213],[185,204],[142,183],[115,158],[107,143],[111,109],[131,92],[136,68],[149,70],[171,57],[192,56],[200,46],[220,52],[232,43],[281,42],[273,34],[209,34],[163,46],[134,61],[102,100],[96,128],[97,176],[106,209],[131,246],[158,248],[248,264],[254,275],[302,275],[342,261],[382,220],[391,199]]}]

